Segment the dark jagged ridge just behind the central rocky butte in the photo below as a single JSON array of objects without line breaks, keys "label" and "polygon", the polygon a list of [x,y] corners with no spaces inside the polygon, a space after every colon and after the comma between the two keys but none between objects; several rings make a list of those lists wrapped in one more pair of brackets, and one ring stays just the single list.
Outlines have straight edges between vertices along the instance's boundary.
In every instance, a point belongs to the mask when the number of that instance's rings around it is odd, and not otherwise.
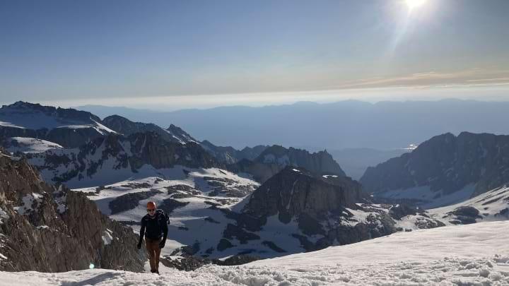
[{"label": "dark jagged ridge just behind the central rocky butte", "polygon": [[280,172],[284,167],[291,165],[303,167],[315,174],[334,174],[345,177],[339,164],[334,161],[327,150],[318,153],[309,153],[296,148],[284,148],[273,145],[265,149],[254,160],[240,160],[236,164],[228,165],[233,172],[252,174],[257,181],[264,182]]}]

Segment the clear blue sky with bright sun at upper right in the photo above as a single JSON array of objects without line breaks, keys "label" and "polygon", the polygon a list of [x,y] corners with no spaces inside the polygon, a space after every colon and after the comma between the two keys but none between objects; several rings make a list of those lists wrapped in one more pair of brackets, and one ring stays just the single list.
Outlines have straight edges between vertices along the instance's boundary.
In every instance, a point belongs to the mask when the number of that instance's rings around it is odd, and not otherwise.
[{"label": "clear blue sky with bright sun at upper right", "polygon": [[0,102],[249,105],[323,100],[315,90],[397,99],[394,88],[509,100],[508,14],[506,0],[411,11],[405,0],[1,0]]}]

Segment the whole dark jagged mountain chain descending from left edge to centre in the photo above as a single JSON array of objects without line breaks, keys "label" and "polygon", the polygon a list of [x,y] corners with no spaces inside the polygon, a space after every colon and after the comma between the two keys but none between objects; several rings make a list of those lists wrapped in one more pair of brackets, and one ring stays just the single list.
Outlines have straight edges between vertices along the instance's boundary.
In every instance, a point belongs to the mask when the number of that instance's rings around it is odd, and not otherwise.
[{"label": "whole dark jagged mountain chain descending from left edge to centre", "polygon": [[1,145],[12,153],[25,153],[47,181],[74,188],[156,175],[175,166],[228,166],[260,181],[287,165],[345,176],[326,152],[310,154],[276,145],[235,150],[199,142],[173,124],[163,129],[119,115],[100,120],[89,112],[29,102],[4,106],[0,114]]}]

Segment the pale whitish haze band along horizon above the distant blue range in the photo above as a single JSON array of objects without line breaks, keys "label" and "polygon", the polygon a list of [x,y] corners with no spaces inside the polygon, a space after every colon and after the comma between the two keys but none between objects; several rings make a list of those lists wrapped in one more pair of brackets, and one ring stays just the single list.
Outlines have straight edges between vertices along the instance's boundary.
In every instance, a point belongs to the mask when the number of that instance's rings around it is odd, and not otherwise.
[{"label": "pale whitish haze band along horizon above the distant blue range", "polygon": [[[174,112],[182,109],[212,109],[217,107],[267,107],[277,105],[294,105],[299,102],[315,102],[317,104],[327,104],[343,101],[360,101],[369,102],[372,104],[378,102],[407,102],[407,101],[440,101],[440,100],[474,100],[479,102],[508,102],[509,101],[509,85],[500,85],[492,88],[488,92],[483,90],[488,95],[479,96],[479,90],[475,88],[442,88],[443,96],[437,95],[436,88],[423,89],[423,90],[407,90],[406,88],[394,88],[393,93],[399,93],[398,96],[388,97],[381,93],[381,90],[353,90],[353,93],[365,95],[361,97],[352,97],[351,95],[338,95],[337,90],[321,90],[315,92],[300,92],[300,93],[277,93],[281,95],[279,100],[274,100],[273,93],[259,93],[253,95],[255,98],[250,97],[235,97],[235,95],[188,95],[185,101],[179,101],[180,98],[176,97],[158,97],[159,100],[150,100],[147,98],[131,98],[131,99],[86,99],[86,100],[0,100],[0,105],[10,105],[16,101],[25,101],[31,103],[39,103],[41,105],[49,105],[62,108],[76,108],[83,106],[102,106],[102,107],[125,107],[129,109],[145,109],[157,112]],[[382,91],[387,92],[387,89]],[[410,93],[412,91],[412,93]],[[421,94],[423,96],[416,96]],[[367,94],[367,95],[366,95]],[[315,95],[314,97],[310,95]],[[321,95],[321,97],[319,96]],[[450,95],[450,96],[447,96]],[[461,96],[462,95],[462,96]],[[218,97],[233,97],[237,100],[218,100]],[[318,97],[318,100],[317,100]],[[250,100],[251,99],[251,100]],[[313,100],[315,99],[315,100]],[[119,104],[122,102],[122,104]]]}]

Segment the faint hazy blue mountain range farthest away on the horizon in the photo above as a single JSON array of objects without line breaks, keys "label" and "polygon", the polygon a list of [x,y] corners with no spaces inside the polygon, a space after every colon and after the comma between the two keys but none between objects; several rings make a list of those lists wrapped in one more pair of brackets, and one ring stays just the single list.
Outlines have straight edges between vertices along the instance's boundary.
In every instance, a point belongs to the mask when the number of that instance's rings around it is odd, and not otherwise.
[{"label": "faint hazy blue mountain range farthest away on the horizon", "polygon": [[[393,150],[437,134],[462,131],[508,134],[509,102],[472,100],[378,102],[355,100],[266,107],[218,107],[152,112],[124,107],[83,106],[100,117],[119,114],[134,121],[181,126],[199,141],[236,149],[283,145],[308,150]],[[341,164],[341,162],[340,162]],[[366,166],[367,167],[367,166]]]}]

